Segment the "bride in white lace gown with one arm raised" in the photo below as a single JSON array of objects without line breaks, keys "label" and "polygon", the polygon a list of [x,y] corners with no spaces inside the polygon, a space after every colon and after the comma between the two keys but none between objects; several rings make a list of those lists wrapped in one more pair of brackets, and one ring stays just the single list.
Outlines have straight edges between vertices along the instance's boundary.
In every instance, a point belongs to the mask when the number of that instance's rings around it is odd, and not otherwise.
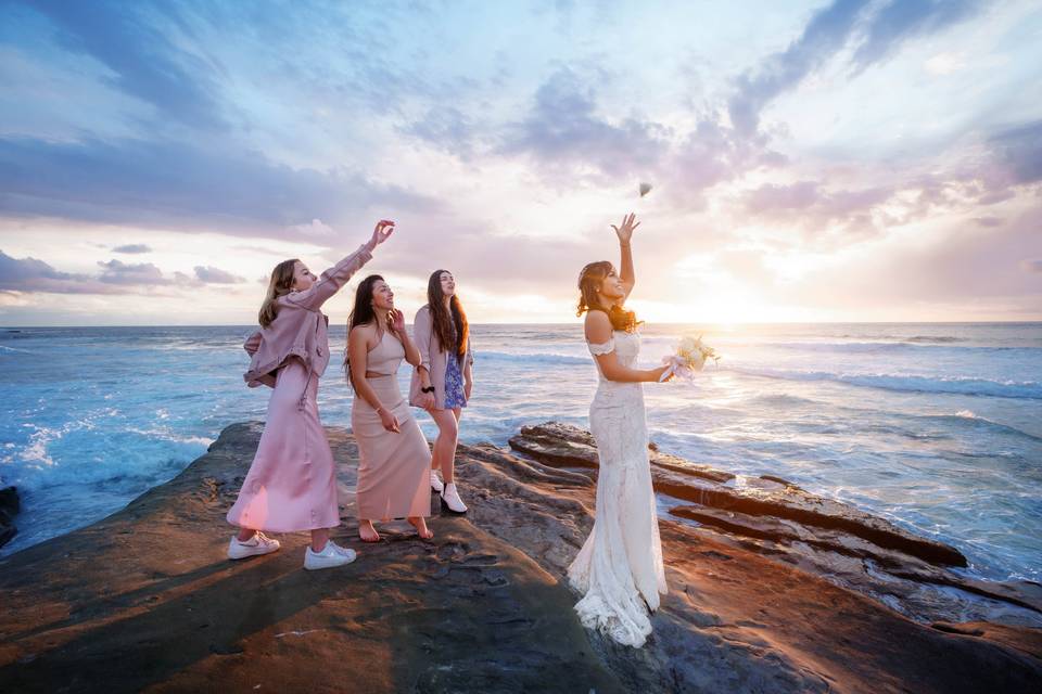
[{"label": "bride in white lace gown with one arm raised", "polygon": [[648,462],[643,382],[658,382],[666,367],[634,369],[640,351],[638,322],[623,303],[634,285],[630,240],[640,226],[623,217],[612,229],[622,250],[622,272],[607,260],[590,262],[579,277],[579,316],[586,313],[586,343],[597,364],[597,394],[589,428],[600,471],[594,529],[568,569],[583,593],[575,605],[583,626],[619,643],[639,647],[651,633],[648,611],[665,594],[665,573]]}]

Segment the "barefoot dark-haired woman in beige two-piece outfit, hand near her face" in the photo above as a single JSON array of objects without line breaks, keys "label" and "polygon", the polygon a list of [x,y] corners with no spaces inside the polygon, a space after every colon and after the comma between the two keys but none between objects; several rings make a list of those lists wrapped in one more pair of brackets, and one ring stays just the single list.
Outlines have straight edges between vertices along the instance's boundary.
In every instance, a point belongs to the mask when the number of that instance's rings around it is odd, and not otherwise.
[{"label": "barefoot dark-haired woman in beige two-piece outfit, hand near her face", "polygon": [[351,426],[358,442],[358,535],[377,542],[373,520],[408,518],[423,539],[431,515],[431,451],[398,389],[402,360],[414,367],[420,352],[394,308],[394,293],[383,278],[361,281],[347,319],[345,365],[355,389]]}]

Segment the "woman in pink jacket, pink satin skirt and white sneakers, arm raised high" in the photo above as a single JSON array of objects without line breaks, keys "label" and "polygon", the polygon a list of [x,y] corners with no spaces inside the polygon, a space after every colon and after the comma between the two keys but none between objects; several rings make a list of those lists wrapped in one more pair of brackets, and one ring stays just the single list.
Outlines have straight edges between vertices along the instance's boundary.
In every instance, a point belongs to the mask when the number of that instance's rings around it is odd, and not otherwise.
[{"label": "woman in pink jacket, pink satin skirt and white sneakers, arm raised high", "polygon": [[271,271],[260,307],[260,330],[250,336],[245,381],[250,387],[274,388],[257,453],[242,483],[228,522],[239,526],[228,557],[241,560],[279,549],[268,532],[312,531],[304,568],[343,566],[353,550],[338,547],[329,530],[340,525],[336,472],[326,430],[318,419],[318,380],[329,363],[329,319],[322,304],[333,296],[376,247],[394,231],[381,220],[358,250],[316,278],[300,260],[285,260]]}]

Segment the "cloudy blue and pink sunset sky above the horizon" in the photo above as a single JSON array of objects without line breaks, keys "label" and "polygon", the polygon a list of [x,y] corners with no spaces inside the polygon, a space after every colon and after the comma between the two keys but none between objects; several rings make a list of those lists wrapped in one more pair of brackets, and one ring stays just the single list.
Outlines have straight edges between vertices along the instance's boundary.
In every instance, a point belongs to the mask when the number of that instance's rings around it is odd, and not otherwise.
[{"label": "cloudy blue and pink sunset sky above the horizon", "polygon": [[575,321],[628,211],[648,321],[1042,320],[1038,2],[0,0],[0,325],[253,323],[381,218],[407,316]]}]

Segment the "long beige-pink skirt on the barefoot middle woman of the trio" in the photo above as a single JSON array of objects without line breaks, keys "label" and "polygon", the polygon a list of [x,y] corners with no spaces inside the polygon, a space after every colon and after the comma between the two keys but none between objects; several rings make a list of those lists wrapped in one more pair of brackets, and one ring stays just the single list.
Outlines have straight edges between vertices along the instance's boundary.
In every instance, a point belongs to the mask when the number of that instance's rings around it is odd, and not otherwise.
[{"label": "long beige-pink skirt on the barefoot middle woman of the trio", "polygon": [[389,432],[355,394],[351,426],[358,441],[357,514],[368,520],[431,515],[431,449],[394,376],[369,378],[385,410],[398,420]]}]

